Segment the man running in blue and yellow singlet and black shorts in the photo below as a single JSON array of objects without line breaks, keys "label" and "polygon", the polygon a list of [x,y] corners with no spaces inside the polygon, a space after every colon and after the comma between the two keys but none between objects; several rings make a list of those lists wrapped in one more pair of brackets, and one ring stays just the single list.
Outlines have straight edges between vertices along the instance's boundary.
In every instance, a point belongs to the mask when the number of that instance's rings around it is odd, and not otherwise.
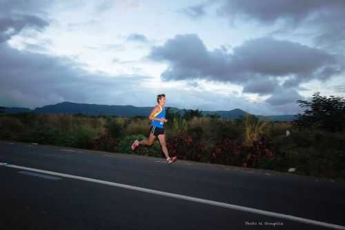
[{"label": "man running in blue and yellow singlet and black shorts", "polygon": [[166,156],[166,162],[170,165],[177,160],[177,157],[174,156],[170,158],[166,147],[166,134],[164,133],[164,123],[168,122],[168,120],[166,120],[166,109],[164,108],[164,105],[166,105],[166,95],[157,95],[157,103],[158,105],[152,109],[150,116],[148,116],[151,121],[149,138],[141,141],[135,140],[132,144],[132,150],[137,149],[141,145],[146,145],[148,147],[152,146],[158,136],[159,143],[161,143],[161,150]]}]

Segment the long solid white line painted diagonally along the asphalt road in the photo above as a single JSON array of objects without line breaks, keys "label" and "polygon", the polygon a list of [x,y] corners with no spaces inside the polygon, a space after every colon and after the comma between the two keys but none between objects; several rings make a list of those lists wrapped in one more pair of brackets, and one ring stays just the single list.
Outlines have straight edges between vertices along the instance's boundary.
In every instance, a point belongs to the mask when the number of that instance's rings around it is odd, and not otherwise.
[{"label": "long solid white line painted diagonally along the asphalt road", "polygon": [[171,194],[165,191],[157,191],[157,190],[153,190],[153,189],[145,189],[142,187],[135,187],[132,185],[124,185],[124,184],[119,184],[116,182],[110,182],[110,181],[106,181],[106,180],[97,180],[97,179],[92,179],[92,178],[86,178],[86,177],[81,177],[81,176],[73,176],[70,174],[61,174],[55,171],[46,171],[46,170],[41,170],[41,169],[34,169],[34,168],[30,168],[30,167],[23,167],[23,166],[18,166],[18,165],[3,165],[3,167],[11,167],[14,169],[23,169],[23,170],[27,170],[27,171],[35,171],[41,174],[50,174],[50,175],[54,175],[54,176],[61,176],[64,178],[72,178],[72,179],[76,179],[76,180],[83,180],[83,181],[88,181],[88,182],[95,182],[101,185],[109,185],[109,186],[113,186],[113,187],[121,187],[124,189],[130,189],[130,190],[135,190],[135,191],[142,191],[142,192],[146,192],[148,194],[155,194],[155,195],[159,195],[159,196],[168,196],[168,197],[172,197],[172,198],[177,198],[177,199],[181,199],[181,200],[188,200],[188,201],[193,201],[193,202],[199,202],[202,204],[207,204],[207,205],[214,205],[217,207],[223,207],[226,209],[235,209],[235,210],[239,210],[239,211],[246,211],[249,213],[255,213],[255,214],[259,214],[259,215],[264,215],[264,216],[272,216],[274,218],[282,218],[282,219],[286,219],[286,220],[293,220],[296,222],[302,222],[302,223],[306,223],[306,224],[314,224],[317,226],[321,226],[321,227],[328,227],[331,229],[345,229],[345,226],[342,225],[337,225],[337,224],[331,224],[331,223],[327,223],[327,222],[321,222],[321,221],[317,221],[317,220],[311,220],[311,219],[306,219],[306,218],[299,218],[297,216],[290,216],[290,215],[286,215],[286,214],[282,214],[282,213],[275,213],[272,211],[264,211],[264,210],[260,210],[260,209],[253,209],[253,208],[249,208],[249,207],[243,207],[243,206],[239,206],[239,205],[231,205],[228,203],[224,203],[224,202],[217,202],[217,201],[213,201],[213,200],[205,200],[205,199],[201,199],[201,198],[195,198],[193,196],[184,196],[184,195],[179,195],[179,194]]}]

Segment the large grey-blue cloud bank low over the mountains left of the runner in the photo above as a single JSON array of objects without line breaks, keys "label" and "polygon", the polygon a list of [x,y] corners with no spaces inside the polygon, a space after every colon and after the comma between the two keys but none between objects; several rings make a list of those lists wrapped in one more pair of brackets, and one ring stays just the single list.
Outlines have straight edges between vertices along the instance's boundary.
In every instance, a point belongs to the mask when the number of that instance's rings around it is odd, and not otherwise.
[{"label": "large grey-blue cloud bank low over the mountains left of the runner", "polygon": [[[121,105],[121,98],[135,103],[141,94],[132,89],[146,76],[91,74],[68,58],[34,54],[0,44],[0,104],[36,107],[61,101],[98,102]],[[121,96],[119,96],[121,95]],[[107,98],[104,100],[104,98]],[[109,101],[109,100],[118,101]],[[132,100],[132,101],[131,101]]]}]

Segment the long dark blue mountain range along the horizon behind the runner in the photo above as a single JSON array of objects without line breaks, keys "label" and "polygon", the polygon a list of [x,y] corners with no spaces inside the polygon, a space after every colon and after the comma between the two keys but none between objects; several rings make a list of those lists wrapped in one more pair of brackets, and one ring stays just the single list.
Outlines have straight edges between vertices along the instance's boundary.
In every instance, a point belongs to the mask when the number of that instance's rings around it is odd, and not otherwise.
[{"label": "long dark blue mountain range along the horizon behind the runner", "polygon": [[[153,107],[153,106],[152,106]],[[88,116],[98,115],[115,115],[115,116],[148,116],[152,107],[135,107],[132,105],[97,105],[97,104],[85,104],[85,103],[71,103],[63,102],[55,105],[45,105],[43,107],[37,107],[36,109],[28,108],[8,108],[4,109],[5,113],[17,114],[21,112],[34,112],[37,114],[85,114]],[[170,111],[179,112],[184,114],[186,109],[178,109],[176,107],[170,107]],[[216,115],[221,118],[241,118],[249,114],[242,109],[232,109],[230,111],[201,111],[204,115]],[[295,115],[279,115],[279,116],[258,116],[261,121],[293,121]]]}]

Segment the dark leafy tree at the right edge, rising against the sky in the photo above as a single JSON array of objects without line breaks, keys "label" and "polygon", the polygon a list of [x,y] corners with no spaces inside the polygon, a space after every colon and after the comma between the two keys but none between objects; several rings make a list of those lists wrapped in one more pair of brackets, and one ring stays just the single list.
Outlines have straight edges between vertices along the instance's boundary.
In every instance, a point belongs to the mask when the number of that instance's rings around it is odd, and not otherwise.
[{"label": "dark leafy tree at the right edge, rising against the sky", "polygon": [[345,100],[339,96],[313,94],[311,101],[298,100],[299,107],[306,107],[294,121],[297,127],[317,127],[330,132],[342,132],[345,128]]}]

